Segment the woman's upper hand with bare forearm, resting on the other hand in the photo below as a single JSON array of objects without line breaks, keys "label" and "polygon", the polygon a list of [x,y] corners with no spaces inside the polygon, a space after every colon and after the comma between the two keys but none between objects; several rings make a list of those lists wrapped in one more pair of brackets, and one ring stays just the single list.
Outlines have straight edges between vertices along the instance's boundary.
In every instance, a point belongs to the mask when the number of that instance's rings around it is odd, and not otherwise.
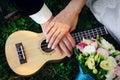
[{"label": "woman's upper hand with bare forearm, resting on the other hand", "polygon": [[50,22],[45,33],[49,48],[54,49],[68,32],[76,28],[78,15],[85,2],[86,0],[71,0],[68,6]]}]

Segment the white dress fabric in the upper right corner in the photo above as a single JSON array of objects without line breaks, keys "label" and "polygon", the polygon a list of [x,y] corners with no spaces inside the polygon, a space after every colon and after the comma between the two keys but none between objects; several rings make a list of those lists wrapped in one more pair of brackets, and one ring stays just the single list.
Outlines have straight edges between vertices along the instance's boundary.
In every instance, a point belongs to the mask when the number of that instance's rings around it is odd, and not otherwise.
[{"label": "white dress fabric in the upper right corner", "polygon": [[120,44],[120,0],[88,0],[87,6]]}]

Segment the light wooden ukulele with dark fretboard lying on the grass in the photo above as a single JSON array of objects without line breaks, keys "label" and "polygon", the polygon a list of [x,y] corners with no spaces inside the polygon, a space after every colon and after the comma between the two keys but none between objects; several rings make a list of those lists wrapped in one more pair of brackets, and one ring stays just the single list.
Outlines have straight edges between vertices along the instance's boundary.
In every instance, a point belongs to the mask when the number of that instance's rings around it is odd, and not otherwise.
[{"label": "light wooden ukulele with dark fretboard lying on the grass", "polygon": [[[94,28],[71,34],[76,43],[83,38],[108,34],[104,27]],[[18,75],[30,76],[42,68],[49,61],[65,58],[54,50],[47,48],[43,33],[31,31],[16,31],[11,34],[5,44],[5,54],[10,68]]]}]

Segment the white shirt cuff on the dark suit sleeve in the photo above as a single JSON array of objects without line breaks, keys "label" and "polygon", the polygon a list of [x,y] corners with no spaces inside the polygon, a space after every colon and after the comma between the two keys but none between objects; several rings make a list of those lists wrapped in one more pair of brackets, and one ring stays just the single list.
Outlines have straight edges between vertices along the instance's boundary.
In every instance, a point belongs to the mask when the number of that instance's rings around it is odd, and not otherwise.
[{"label": "white shirt cuff on the dark suit sleeve", "polygon": [[43,24],[47,22],[51,18],[51,16],[52,16],[52,12],[44,4],[39,12],[30,15],[29,17],[31,17],[36,23]]}]

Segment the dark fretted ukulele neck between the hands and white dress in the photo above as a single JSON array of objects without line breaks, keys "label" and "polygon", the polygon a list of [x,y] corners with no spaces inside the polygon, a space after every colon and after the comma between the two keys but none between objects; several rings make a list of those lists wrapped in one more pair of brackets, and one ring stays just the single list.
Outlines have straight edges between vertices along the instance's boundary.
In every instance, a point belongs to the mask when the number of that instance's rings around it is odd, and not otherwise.
[{"label": "dark fretted ukulele neck between the hands and white dress", "polygon": [[105,35],[108,34],[107,30],[105,27],[98,27],[82,32],[76,32],[71,34],[72,37],[75,39],[76,43],[79,43],[83,38],[85,39],[90,39],[90,38],[96,38],[97,35]]}]

